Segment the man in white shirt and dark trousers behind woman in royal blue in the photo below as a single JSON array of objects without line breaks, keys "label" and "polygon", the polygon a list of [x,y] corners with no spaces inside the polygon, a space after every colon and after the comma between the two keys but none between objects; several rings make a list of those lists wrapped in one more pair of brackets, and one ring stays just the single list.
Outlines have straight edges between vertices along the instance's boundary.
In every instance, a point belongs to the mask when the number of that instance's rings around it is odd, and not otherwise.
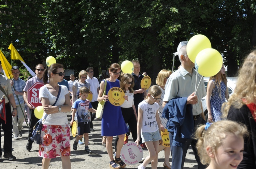
[{"label": "man in white shirt and dark trousers behind woman in royal blue", "polygon": [[[100,83],[96,77],[93,77],[93,68],[89,67],[86,69],[86,72],[88,74],[86,81],[91,84],[90,90],[93,93],[93,99],[91,100],[91,106],[93,106],[94,109],[97,109],[98,107],[98,94],[100,90]],[[90,123],[90,130],[95,131],[93,129],[93,120],[95,119],[96,113],[91,112],[91,123]]]}]

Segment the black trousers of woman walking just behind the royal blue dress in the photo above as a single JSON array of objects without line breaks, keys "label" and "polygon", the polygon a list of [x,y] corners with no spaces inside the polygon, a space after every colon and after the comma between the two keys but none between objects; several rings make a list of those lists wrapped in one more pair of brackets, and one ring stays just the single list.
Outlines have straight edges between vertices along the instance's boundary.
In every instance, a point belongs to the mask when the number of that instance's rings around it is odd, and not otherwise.
[{"label": "black trousers of woman walking just behind the royal blue dress", "polygon": [[[125,120],[125,123],[128,123],[130,131],[131,131],[131,135],[133,138],[133,142],[135,142],[137,140],[137,120],[133,111],[133,108],[122,108],[122,114]],[[115,152],[116,152],[116,145],[117,145],[117,141],[118,141],[118,136],[116,136],[115,139]]]}]

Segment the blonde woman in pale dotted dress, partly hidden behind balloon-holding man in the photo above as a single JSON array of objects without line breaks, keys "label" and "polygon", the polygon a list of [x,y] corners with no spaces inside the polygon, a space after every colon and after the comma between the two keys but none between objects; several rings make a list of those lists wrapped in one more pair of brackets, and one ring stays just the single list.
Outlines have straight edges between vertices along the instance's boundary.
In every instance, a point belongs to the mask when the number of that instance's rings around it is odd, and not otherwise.
[{"label": "blonde woman in pale dotted dress, partly hidden behind balloon-holding man", "polygon": [[[162,91],[162,94],[161,94],[161,97],[160,97],[160,101],[159,101],[159,111],[158,111],[158,114],[159,114],[159,117],[160,117],[160,120],[161,120],[161,130],[164,131],[166,129],[166,124],[167,124],[167,121],[168,119],[167,118],[163,118],[162,117],[162,113],[163,113],[163,107],[162,107],[162,104],[163,104],[163,96],[165,95],[165,84],[166,84],[166,81],[167,79],[170,77],[170,75],[172,74],[171,71],[168,71],[166,69],[163,69],[161,70],[157,77],[156,77],[156,84],[159,85],[161,91]],[[172,139],[169,139],[170,140],[170,146],[172,146]],[[163,162],[163,168],[167,168],[167,169],[170,169],[171,168],[171,164],[170,164],[170,152],[171,152],[171,148],[170,147],[165,147],[163,145],[159,145],[158,147],[158,153],[161,151],[161,150],[164,150],[165,151],[165,162]]]}]

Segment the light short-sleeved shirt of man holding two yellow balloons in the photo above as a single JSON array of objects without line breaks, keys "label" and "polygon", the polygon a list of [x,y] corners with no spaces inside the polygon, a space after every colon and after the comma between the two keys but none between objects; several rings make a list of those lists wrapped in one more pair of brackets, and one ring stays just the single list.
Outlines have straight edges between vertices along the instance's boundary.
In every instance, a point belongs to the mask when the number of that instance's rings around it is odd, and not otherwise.
[{"label": "light short-sleeved shirt of man holding two yellow balloons", "polygon": [[202,76],[198,74],[195,69],[192,70],[191,75],[181,66],[180,69],[172,73],[171,76],[168,78],[165,85],[165,96],[163,97],[163,101],[169,101],[175,97],[188,97],[190,94],[195,92],[195,89],[199,84],[196,92],[198,103],[192,105],[192,112],[194,116],[201,114],[201,99],[206,96],[203,79],[200,81],[201,77]]}]

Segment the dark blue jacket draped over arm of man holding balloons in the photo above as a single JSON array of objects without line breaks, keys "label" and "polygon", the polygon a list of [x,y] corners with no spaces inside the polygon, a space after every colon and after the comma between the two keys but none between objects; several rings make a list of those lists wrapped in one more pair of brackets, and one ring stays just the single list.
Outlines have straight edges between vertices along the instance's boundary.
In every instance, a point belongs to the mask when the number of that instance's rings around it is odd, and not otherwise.
[{"label": "dark blue jacket draped over arm of man holding balloons", "polygon": [[173,146],[182,147],[194,132],[192,105],[187,105],[187,97],[171,99],[163,108],[163,118],[167,118],[166,128],[173,134]]}]

